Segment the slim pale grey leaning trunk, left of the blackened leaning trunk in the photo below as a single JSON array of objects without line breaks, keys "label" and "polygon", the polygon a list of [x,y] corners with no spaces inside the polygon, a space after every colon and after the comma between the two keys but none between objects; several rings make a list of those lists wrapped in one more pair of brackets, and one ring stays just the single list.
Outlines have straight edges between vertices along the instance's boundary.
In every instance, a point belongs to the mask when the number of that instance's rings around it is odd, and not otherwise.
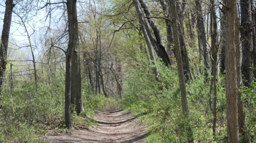
[{"label": "slim pale grey leaning trunk, left of the blackened leaning trunk", "polygon": [[151,45],[151,41],[153,41],[153,37],[152,36],[150,37],[149,36],[150,34],[148,34],[148,32],[150,31],[150,25],[148,24],[147,20],[144,18],[144,12],[141,11],[141,5],[140,5],[139,1],[138,0],[133,0],[133,4],[134,4],[134,6],[136,8],[136,12],[139,16],[139,21],[140,21],[140,24],[141,24],[144,39],[146,41],[148,51],[150,52],[150,59],[152,61],[152,64],[154,65],[153,71],[154,71],[154,74],[155,74],[156,81],[161,83],[161,78],[160,78],[158,68],[157,68],[157,64],[156,64],[155,54],[154,54],[154,51],[153,51],[153,47]]}]

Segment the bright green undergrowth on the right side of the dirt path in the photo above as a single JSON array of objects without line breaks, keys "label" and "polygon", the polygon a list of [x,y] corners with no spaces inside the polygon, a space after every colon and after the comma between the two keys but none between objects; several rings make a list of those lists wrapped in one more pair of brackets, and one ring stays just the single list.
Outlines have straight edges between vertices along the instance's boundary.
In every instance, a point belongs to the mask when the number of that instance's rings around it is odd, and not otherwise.
[{"label": "bright green undergrowth on the right side of the dirt path", "polygon": [[186,142],[188,127],[193,130],[193,137],[197,142],[227,141],[223,78],[219,78],[217,84],[218,120],[214,137],[211,127],[213,115],[208,102],[209,85],[205,84],[204,76],[198,75],[195,80],[186,83],[189,118],[184,118],[176,67],[159,66],[165,87],[163,91],[158,90],[159,83],[155,82],[150,70],[151,67],[147,66],[130,70],[134,76],[126,84],[128,92],[123,99],[123,107],[130,109],[133,115],[147,125],[146,142]]}]

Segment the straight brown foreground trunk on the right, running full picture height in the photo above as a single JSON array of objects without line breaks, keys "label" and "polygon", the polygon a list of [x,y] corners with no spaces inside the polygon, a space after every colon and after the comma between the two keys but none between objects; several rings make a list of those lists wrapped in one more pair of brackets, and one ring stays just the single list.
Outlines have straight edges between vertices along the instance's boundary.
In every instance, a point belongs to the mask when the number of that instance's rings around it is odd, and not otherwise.
[{"label": "straight brown foreground trunk on the right, running full picture height", "polygon": [[236,43],[238,40],[237,25],[238,8],[237,1],[226,1],[226,107],[227,107],[227,134],[228,142],[238,143],[238,106],[237,106],[237,64],[236,64]]}]

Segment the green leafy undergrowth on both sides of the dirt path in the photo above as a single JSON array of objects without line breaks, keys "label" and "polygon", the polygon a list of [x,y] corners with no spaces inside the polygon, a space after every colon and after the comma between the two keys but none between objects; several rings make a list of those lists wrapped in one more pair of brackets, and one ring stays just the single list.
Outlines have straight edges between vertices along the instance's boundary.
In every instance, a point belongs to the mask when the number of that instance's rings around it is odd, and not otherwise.
[{"label": "green leafy undergrowth on both sides of the dirt path", "polygon": [[[147,126],[146,142],[186,142],[186,129],[193,130],[196,142],[227,142],[226,98],[224,77],[217,82],[217,126],[212,133],[212,111],[209,107],[209,85],[203,75],[186,83],[189,118],[182,112],[177,69],[159,65],[162,79],[155,81],[152,66],[141,65],[127,69],[124,77],[123,99],[95,95],[90,84],[83,82],[84,112],[72,113],[75,129],[95,126],[94,110],[122,108],[130,110]],[[132,75],[132,76],[131,76]],[[68,132],[64,124],[64,82],[56,78],[50,84],[17,80],[16,87],[4,86],[0,109],[0,142],[48,142],[46,136]],[[159,87],[163,86],[163,90]],[[256,82],[251,88],[241,88],[245,103],[248,132],[252,142],[256,135]]]}]

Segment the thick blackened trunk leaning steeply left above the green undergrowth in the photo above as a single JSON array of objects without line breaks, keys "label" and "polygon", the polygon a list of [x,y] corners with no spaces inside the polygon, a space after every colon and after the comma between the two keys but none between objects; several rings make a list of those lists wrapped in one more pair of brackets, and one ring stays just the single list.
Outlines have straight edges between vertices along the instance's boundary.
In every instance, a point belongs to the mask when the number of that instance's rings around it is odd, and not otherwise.
[{"label": "thick blackened trunk leaning steeply left above the green undergrowth", "polygon": [[[168,54],[165,50],[160,30],[159,30],[155,20],[151,17],[152,14],[148,10],[145,3],[142,0],[139,0],[139,3],[141,5],[141,7],[143,8],[144,14],[147,17],[148,23],[150,23],[150,26],[153,30],[154,35],[155,35],[156,42],[155,42],[155,48],[154,49],[155,49],[157,55],[159,56],[159,58],[162,59],[165,66],[169,66],[170,65],[170,60],[169,60]],[[149,29],[148,32],[151,32],[151,30]]]}]

